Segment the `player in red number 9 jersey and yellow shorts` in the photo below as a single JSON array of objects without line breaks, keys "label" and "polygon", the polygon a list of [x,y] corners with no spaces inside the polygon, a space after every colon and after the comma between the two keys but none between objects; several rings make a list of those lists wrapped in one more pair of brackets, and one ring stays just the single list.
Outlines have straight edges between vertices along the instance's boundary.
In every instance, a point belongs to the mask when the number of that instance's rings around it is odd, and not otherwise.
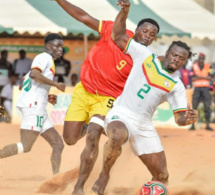
[{"label": "player in red number 9 jersey and yellow shorts", "polygon": [[[75,144],[86,133],[86,146],[81,154],[78,181],[73,195],[83,195],[84,184],[98,156],[98,144],[103,132],[104,118],[125,85],[132,67],[130,56],[125,55],[111,39],[113,22],[99,21],[66,0],[56,2],[73,18],[101,35],[100,41],[90,50],[81,69],[81,82],[75,87],[71,104],[65,117],[63,138],[68,145]],[[135,36],[146,46],[159,32],[152,19],[141,20]],[[126,31],[129,37],[133,33]]]}]

